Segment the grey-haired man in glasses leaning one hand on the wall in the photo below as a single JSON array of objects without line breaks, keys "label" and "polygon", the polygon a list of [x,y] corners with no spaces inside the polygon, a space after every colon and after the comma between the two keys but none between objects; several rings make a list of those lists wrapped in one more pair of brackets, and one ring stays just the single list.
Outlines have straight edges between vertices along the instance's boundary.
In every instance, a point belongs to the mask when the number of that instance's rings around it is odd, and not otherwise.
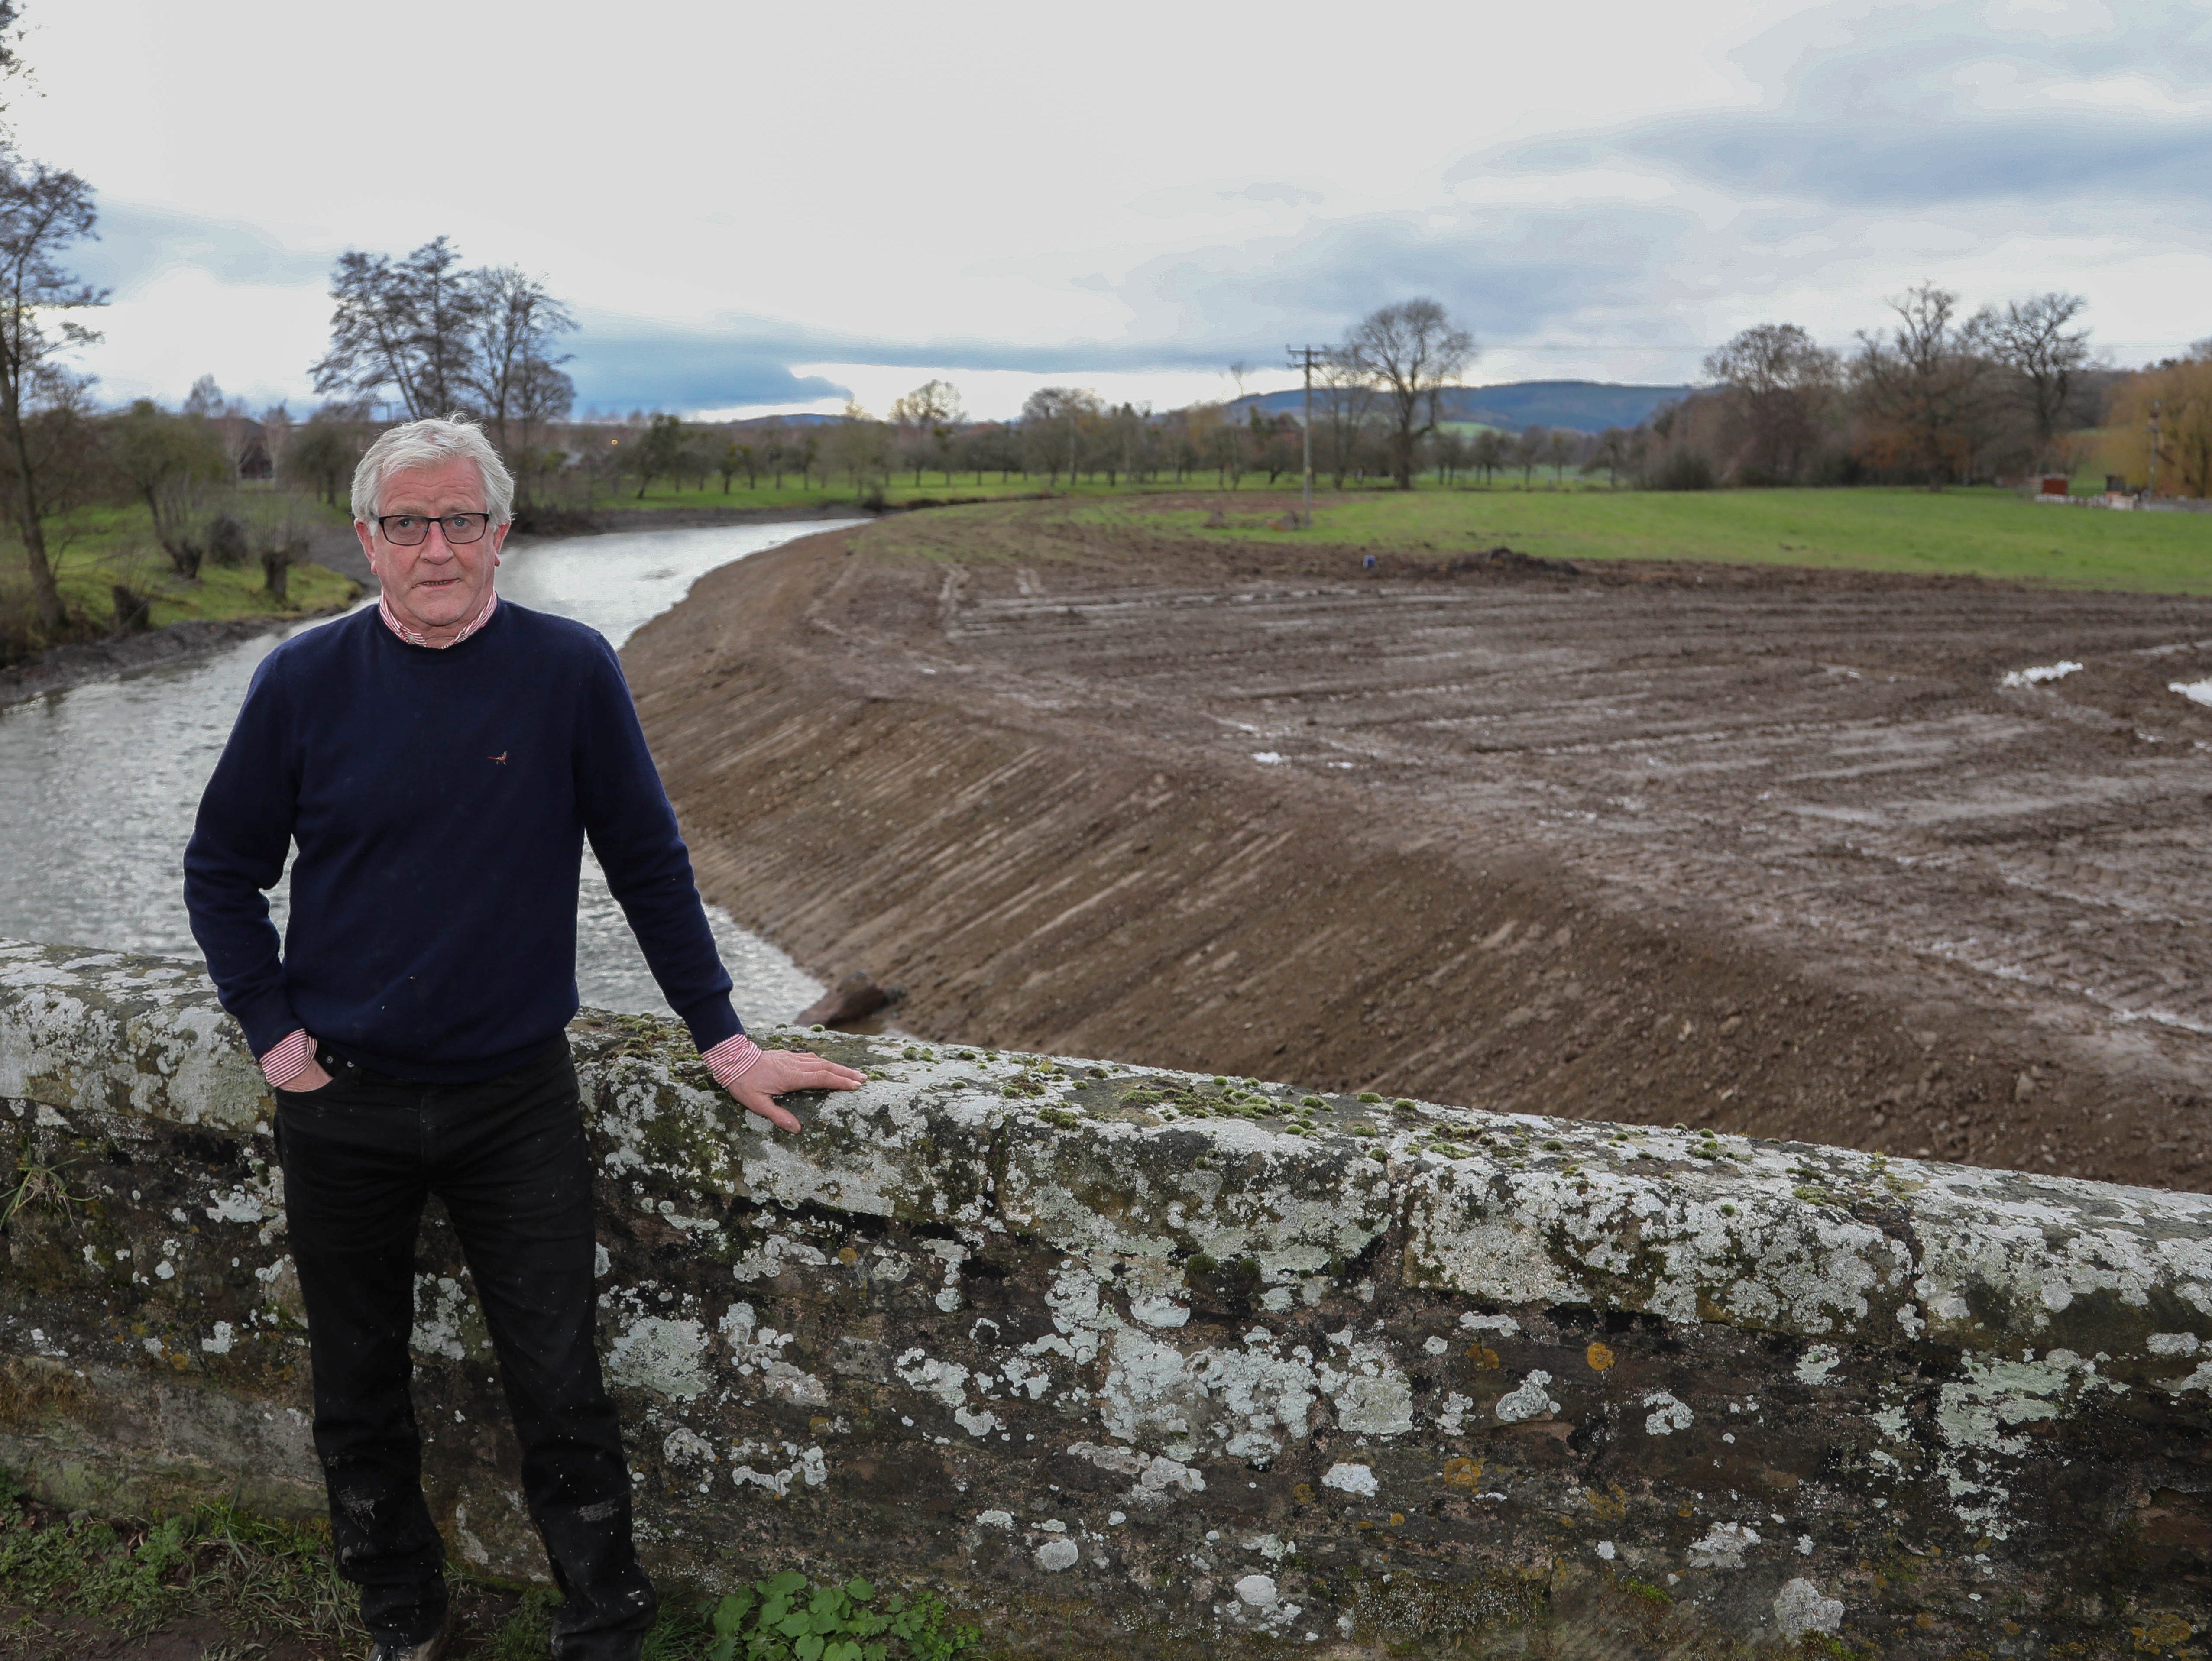
[{"label": "grey-haired man in glasses leaning one hand on the wall", "polygon": [[[776,1095],[860,1084],[743,1035],[613,648],[493,591],[511,504],[469,422],[414,420],[369,447],[354,531],[383,599],[261,664],[184,856],[192,936],[276,1093],[314,1446],[374,1661],[434,1661],[449,1632],[407,1358],[431,1192],[469,1258],[564,1595],[553,1654],[635,1661],[653,1626],[593,1347],[591,1161],[564,1037],[584,838],[750,1112],[796,1130]],[[263,889],[294,843],[279,953]]]}]

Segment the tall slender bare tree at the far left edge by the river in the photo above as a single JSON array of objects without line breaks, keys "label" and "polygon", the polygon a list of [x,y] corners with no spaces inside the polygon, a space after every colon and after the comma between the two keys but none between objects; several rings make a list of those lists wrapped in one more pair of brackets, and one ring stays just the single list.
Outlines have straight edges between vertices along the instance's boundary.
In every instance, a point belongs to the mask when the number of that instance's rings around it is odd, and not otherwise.
[{"label": "tall slender bare tree at the far left edge by the river", "polygon": [[[13,9],[0,15],[0,31]],[[40,442],[42,409],[75,407],[86,378],[62,354],[100,336],[71,312],[104,305],[106,292],[62,270],[62,250],[93,234],[93,188],[75,173],[0,153],[0,442],[15,473],[15,522],[31,566],[38,626],[62,628],[62,591],[46,553],[53,456]]]}]

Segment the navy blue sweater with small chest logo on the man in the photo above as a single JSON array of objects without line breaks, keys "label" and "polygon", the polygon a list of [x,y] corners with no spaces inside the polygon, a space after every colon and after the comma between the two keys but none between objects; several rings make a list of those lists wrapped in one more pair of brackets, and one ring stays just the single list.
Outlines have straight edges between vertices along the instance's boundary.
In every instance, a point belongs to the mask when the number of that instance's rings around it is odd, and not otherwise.
[{"label": "navy blue sweater with small chest logo on the man", "polygon": [[[184,902],[254,1055],[305,1026],[361,1066],[467,1084],[575,1015],[584,836],[692,1042],[737,1035],[615,648],[500,599],[429,650],[372,606],[254,672],[199,801]],[[279,958],[263,889],[294,840]]]}]

